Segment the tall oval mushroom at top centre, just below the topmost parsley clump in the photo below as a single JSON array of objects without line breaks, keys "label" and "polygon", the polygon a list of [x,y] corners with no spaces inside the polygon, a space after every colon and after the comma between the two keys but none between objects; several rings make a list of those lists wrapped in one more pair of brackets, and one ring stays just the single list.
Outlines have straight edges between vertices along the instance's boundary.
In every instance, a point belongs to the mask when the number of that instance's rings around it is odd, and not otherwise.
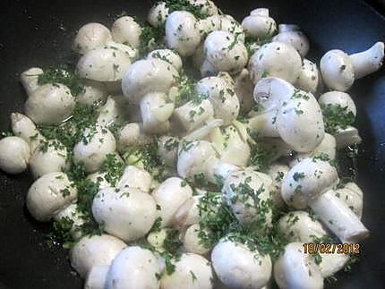
[{"label": "tall oval mushroom at top centre, just below the topmost parsley clump", "polygon": [[167,47],[175,49],[184,57],[193,55],[201,43],[201,34],[196,23],[192,13],[175,11],[169,14],[166,21]]}]

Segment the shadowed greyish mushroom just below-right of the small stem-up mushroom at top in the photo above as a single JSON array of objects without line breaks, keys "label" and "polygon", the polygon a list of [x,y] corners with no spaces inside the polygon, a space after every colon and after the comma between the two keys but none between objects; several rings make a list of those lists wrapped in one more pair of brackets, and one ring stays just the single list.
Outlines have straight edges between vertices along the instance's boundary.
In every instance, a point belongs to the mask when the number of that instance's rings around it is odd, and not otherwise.
[{"label": "shadowed greyish mushroom just below-right of the small stem-up mushroom at top", "polygon": [[309,52],[309,39],[295,24],[279,24],[278,34],[273,41],[283,42],[295,47],[295,50],[304,57]]}]

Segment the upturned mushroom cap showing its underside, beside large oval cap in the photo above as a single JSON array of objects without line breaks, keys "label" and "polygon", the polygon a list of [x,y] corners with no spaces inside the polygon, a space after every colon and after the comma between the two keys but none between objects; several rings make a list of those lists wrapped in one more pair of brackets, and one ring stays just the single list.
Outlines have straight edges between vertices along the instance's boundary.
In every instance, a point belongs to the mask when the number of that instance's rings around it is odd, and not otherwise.
[{"label": "upturned mushroom cap showing its underside, beside large oval cap", "polygon": [[294,93],[295,87],[291,83],[277,77],[266,77],[255,85],[253,98],[263,108],[262,112],[270,112],[277,110]]}]

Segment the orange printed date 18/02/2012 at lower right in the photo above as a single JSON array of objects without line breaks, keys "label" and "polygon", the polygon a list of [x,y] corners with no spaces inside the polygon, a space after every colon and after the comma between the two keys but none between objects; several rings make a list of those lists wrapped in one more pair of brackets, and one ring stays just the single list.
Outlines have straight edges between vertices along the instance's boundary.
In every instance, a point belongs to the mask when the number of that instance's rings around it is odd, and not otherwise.
[{"label": "orange printed date 18/02/2012 at lower right", "polygon": [[359,254],[359,243],[313,243],[304,242],[305,254]]}]

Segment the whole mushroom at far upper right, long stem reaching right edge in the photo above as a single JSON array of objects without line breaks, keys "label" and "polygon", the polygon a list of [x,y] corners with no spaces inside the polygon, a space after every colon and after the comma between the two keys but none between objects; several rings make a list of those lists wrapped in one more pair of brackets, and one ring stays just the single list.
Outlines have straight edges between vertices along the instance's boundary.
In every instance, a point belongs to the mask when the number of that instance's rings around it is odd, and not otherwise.
[{"label": "whole mushroom at far upper right, long stem reaching right edge", "polygon": [[329,89],[347,91],[356,79],[379,70],[383,57],[383,42],[377,42],[368,50],[354,55],[347,55],[338,49],[330,50],[321,58],[323,81]]}]

